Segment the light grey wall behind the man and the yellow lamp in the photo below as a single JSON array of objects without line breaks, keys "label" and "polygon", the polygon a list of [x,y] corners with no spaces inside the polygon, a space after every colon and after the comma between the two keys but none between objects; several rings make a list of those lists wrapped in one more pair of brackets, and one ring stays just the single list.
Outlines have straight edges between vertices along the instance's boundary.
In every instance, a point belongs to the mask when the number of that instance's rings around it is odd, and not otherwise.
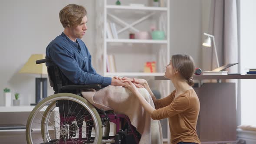
[{"label": "light grey wall behind the man and the yellow lamp", "polygon": [[[94,49],[94,0],[1,0],[0,1],[0,105],[3,88],[20,93],[21,105],[35,101],[35,78],[40,75],[19,74],[31,54],[45,53],[46,46],[61,34],[59,11],[69,3],[86,7],[88,31],[83,38]],[[48,84],[49,85],[49,84]],[[53,94],[48,87],[48,94]]]}]

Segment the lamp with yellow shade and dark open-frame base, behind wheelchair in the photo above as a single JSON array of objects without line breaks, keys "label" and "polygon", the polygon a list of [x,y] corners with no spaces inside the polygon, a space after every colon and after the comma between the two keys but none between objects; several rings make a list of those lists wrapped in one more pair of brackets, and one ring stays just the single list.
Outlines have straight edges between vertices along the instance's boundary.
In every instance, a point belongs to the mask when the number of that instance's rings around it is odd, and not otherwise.
[{"label": "lamp with yellow shade and dark open-frame base, behind wheelchair", "polygon": [[[45,59],[43,54],[33,54],[30,56],[26,64],[20,69],[19,73],[31,73],[39,74],[40,78],[36,78],[36,103],[30,105],[36,105],[41,99],[47,97],[47,78],[42,78],[42,75],[47,75],[47,68],[45,63],[36,65],[36,60]],[[41,96],[41,84],[42,84],[42,96]]]}]

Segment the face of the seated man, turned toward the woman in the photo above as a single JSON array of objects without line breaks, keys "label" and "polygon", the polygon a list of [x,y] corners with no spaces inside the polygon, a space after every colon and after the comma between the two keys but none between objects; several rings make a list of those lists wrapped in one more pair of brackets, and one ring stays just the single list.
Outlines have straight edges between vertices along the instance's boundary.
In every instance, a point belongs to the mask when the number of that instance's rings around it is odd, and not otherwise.
[{"label": "face of the seated man, turned toward the woman", "polygon": [[71,33],[74,38],[82,39],[87,30],[87,16],[83,17],[82,22],[77,27],[71,27]]}]

